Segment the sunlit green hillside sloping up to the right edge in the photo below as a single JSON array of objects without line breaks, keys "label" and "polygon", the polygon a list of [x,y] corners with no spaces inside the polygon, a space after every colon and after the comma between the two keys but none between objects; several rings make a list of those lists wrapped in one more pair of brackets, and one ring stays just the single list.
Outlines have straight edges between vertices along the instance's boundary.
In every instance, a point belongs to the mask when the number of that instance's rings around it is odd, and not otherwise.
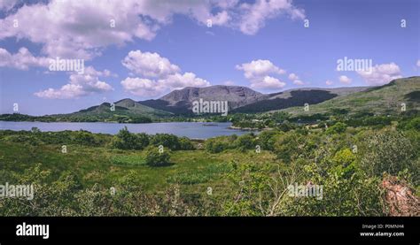
[{"label": "sunlit green hillside sloping up to the right edge", "polygon": [[287,108],[293,115],[312,115],[333,110],[350,113],[371,112],[375,114],[395,114],[401,112],[401,103],[407,111],[420,111],[420,77],[392,80],[390,83],[338,96],[318,104],[310,104],[309,111],[302,107]]}]

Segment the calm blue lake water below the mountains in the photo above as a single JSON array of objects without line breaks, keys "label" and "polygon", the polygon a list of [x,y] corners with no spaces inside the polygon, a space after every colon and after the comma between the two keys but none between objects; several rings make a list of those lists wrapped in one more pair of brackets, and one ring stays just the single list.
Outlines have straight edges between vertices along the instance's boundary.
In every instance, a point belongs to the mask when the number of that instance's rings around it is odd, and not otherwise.
[{"label": "calm blue lake water below the mountains", "polygon": [[[220,135],[246,134],[250,131],[230,129],[231,123],[198,123],[198,122],[165,122],[165,123],[144,123],[144,124],[124,124],[124,123],[102,123],[102,122],[10,122],[0,121],[0,130],[31,130],[33,126],[38,127],[43,132],[48,131],[77,131],[80,129],[91,133],[117,134],[121,128],[127,126],[132,133],[146,134],[175,134],[186,136],[191,139],[206,139]],[[207,125],[207,126],[206,126]]]}]

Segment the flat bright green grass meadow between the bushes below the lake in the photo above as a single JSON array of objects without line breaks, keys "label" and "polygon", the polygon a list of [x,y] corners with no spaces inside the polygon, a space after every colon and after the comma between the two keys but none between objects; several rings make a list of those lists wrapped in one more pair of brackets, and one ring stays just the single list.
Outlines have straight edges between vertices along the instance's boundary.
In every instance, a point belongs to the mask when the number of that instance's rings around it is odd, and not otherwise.
[{"label": "flat bright green grass meadow between the bushes below the lake", "polygon": [[31,165],[41,163],[54,177],[64,171],[73,172],[85,187],[95,183],[112,187],[129,174],[136,177],[136,185],[148,192],[177,183],[190,193],[206,193],[206,189],[212,187],[214,191],[225,194],[229,185],[223,176],[229,172],[231,161],[240,164],[276,163],[276,158],[268,151],[257,154],[253,150],[245,153],[227,150],[211,154],[205,150],[179,150],[172,152],[173,165],[150,167],[144,163],[142,150],[67,145],[67,153],[61,153],[58,145],[30,146],[0,141],[0,170],[23,172]]}]

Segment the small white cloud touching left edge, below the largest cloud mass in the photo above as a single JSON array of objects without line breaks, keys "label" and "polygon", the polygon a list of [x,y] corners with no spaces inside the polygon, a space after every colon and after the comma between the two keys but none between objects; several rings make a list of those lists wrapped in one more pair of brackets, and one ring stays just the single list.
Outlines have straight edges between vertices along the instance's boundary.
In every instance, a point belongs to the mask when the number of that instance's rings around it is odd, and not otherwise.
[{"label": "small white cloud touching left edge, below the largest cloud mass", "polygon": [[0,67],[11,67],[27,70],[31,66],[48,67],[50,59],[47,57],[34,57],[27,48],[20,48],[15,54],[0,48]]}]

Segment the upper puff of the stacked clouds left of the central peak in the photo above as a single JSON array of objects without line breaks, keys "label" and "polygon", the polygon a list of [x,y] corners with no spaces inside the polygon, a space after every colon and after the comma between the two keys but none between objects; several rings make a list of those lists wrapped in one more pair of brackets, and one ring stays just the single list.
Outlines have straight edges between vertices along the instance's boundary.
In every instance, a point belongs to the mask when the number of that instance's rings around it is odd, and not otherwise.
[{"label": "upper puff of the stacked clouds left of the central peak", "polygon": [[122,65],[133,73],[151,78],[164,78],[181,70],[177,65],[172,65],[166,57],[160,57],[158,53],[142,53],[140,50],[130,51],[122,61]]}]

